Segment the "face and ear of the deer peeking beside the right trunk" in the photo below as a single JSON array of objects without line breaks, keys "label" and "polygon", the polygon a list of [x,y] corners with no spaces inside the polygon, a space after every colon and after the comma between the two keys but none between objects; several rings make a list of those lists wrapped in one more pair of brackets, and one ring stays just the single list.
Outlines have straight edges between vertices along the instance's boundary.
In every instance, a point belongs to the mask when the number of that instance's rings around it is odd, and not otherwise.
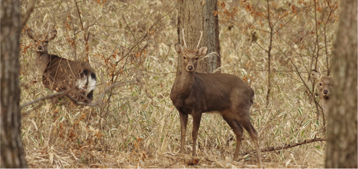
[{"label": "face and ear of the deer peeking beside the right trunk", "polygon": [[319,94],[325,99],[329,99],[331,94],[332,78],[329,76],[322,76],[321,73],[316,70],[312,70],[312,76],[315,81],[317,81],[317,88]]}]

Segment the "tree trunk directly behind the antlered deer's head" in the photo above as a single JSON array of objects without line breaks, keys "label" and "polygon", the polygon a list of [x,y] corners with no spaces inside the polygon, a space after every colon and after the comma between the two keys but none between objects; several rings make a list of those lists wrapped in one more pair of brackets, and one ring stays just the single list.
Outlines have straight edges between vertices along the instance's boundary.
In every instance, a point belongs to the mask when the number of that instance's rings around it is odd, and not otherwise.
[{"label": "tree trunk directly behind the antlered deer's head", "polygon": [[[185,32],[185,42],[189,49],[196,49],[200,31],[203,37],[199,48],[208,47],[208,54],[217,52],[220,56],[219,26],[217,15],[217,0],[178,0],[178,36],[179,43],[183,44],[182,28]],[[204,4],[203,4],[204,2]],[[211,73],[220,67],[220,57],[215,55],[199,61],[197,72]],[[181,59],[178,59],[178,72],[181,71]]]}]

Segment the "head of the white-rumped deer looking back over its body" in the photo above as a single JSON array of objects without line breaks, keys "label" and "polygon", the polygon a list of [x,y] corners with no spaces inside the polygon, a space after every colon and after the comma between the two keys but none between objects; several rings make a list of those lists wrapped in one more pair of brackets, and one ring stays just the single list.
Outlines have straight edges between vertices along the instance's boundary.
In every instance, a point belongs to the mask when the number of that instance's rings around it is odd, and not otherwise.
[{"label": "head of the white-rumped deer looking back over its body", "polygon": [[56,30],[45,34],[35,33],[32,29],[27,30],[27,35],[34,41],[34,50],[37,53],[47,53],[47,46],[51,40],[55,39],[56,34]]}]

